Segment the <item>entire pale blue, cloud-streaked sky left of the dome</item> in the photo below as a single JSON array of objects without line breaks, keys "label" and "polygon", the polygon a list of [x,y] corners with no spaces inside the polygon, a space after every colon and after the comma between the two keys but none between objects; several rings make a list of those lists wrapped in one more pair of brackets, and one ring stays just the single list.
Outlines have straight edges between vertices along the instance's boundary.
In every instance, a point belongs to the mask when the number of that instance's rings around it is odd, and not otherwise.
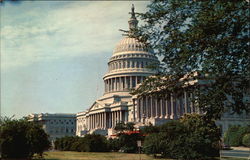
[{"label": "entire pale blue, cloud-streaked sky left of the dome", "polygon": [[[149,1],[17,1],[0,4],[1,115],[77,113],[103,95],[102,77],[132,4]],[[139,23],[140,24],[140,23]]]}]

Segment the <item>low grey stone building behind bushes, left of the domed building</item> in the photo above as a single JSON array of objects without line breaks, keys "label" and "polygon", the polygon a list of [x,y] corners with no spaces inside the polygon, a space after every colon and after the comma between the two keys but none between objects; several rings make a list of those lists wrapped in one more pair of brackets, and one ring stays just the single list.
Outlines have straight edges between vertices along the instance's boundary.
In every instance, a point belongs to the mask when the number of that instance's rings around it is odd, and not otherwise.
[{"label": "low grey stone building behind bushes, left of the domed building", "polygon": [[29,121],[35,121],[42,125],[45,132],[54,141],[56,138],[64,136],[75,136],[76,115],[75,114],[30,114]]}]

